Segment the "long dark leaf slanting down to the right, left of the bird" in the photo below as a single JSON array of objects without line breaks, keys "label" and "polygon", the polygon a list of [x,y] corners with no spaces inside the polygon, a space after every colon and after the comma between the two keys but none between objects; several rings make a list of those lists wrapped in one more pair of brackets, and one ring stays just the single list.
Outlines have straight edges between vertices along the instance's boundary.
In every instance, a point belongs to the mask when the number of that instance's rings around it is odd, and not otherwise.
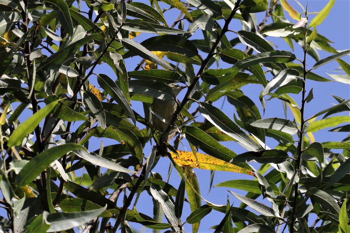
[{"label": "long dark leaf slanting down to the right, left of the bird", "polygon": [[101,87],[103,87],[103,89],[127,112],[128,116],[135,124],[136,119],[134,112],[116,83],[105,74],[99,74],[97,81],[98,84],[101,85]]}]

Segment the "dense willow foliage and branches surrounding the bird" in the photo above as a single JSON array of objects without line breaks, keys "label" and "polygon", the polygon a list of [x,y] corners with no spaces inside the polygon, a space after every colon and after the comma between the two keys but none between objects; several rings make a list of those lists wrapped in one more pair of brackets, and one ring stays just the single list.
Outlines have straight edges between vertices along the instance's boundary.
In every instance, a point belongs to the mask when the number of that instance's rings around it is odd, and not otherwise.
[{"label": "dense willow foliage and branches surrounding the bird", "polygon": [[[350,84],[341,59],[350,50],[337,51],[316,30],[334,2],[308,20],[307,7],[298,12],[287,0],[3,0],[1,232],[133,232],[131,222],[153,232],[189,225],[198,232],[217,212],[224,217],[214,232],[350,232],[349,137],[313,136],[325,127],[349,132],[350,100],[335,93],[330,108],[306,105],[314,98],[310,80],[330,81],[313,72],[318,67],[336,60],[344,74],[330,77]],[[271,37],[290,51],[277,50]],[[304,56],[293,54],[294,44]],[[320,59],[316,49],[332,54]],[[158,132],[151,103],[174,100],[167,84],[176,82],[186,94],[167,131]],[[260,103],[243,86],[261,89],[253,92]],[[293,116],[263,118],[272,99]],[[235,115],[217,108],[219,101]],[[164,135],[173,133],[168,144]],[[157,156],[163,143],[167,158]],[[165,160],[177,181],[152,171]],[[193,168],[246,174],[216,185],[241,204],[204,199]],[[153,216],[136,209],[139,196],[151,196],[145,205]]]}]

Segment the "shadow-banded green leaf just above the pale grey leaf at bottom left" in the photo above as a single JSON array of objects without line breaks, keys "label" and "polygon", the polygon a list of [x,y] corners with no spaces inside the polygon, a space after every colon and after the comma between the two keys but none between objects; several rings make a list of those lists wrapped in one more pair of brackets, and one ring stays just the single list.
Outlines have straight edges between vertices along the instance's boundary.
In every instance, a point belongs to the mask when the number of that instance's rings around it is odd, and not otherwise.
[{"label": "shadow-banded green leaf just above the pale grey leaf at bottom left", "polygon": [[[97,210],[101,208],[101,206],[91,201],[70,196],[60,201],[58,207],[61,208],[64,212],[80,212],[86,210]],[[99,216],[112,217],[112,214],[105,210]]]}]

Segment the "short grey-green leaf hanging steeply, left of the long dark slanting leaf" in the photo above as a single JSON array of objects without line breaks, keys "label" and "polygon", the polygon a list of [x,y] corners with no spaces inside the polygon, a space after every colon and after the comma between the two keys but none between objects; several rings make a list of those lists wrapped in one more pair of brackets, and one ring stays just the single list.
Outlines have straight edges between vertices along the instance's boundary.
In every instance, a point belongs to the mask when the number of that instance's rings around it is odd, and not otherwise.
[{"label": "short grey-green leaf hanging steeply, left of the long dark slanting leaf", "polygon": [[93,93],[84,92],[84,101],[91,110],[92,114],[96,117],[98,123],[102,129],[106,129],[106,114],[102,107],[101,102]]}]

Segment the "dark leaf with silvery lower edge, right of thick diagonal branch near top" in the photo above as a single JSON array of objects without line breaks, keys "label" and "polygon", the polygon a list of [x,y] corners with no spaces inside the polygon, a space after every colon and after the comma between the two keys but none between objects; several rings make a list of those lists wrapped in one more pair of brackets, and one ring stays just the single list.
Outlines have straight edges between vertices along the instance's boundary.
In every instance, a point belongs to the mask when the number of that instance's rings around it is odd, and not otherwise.
[{"label": "dark leaf with silvery lower edge, right of thick diagonal branch near top", "polygon": [[[243,1],[244,2],[244,1]],[[254,32],[250,31],[238,31],[238,38],[239,40],[254,49],[255,51],[262,53],[262,52],[271,52],[274,49],[272,46],[267,43],[267,41],[264,39],[264,37],[260,37]]]}]

